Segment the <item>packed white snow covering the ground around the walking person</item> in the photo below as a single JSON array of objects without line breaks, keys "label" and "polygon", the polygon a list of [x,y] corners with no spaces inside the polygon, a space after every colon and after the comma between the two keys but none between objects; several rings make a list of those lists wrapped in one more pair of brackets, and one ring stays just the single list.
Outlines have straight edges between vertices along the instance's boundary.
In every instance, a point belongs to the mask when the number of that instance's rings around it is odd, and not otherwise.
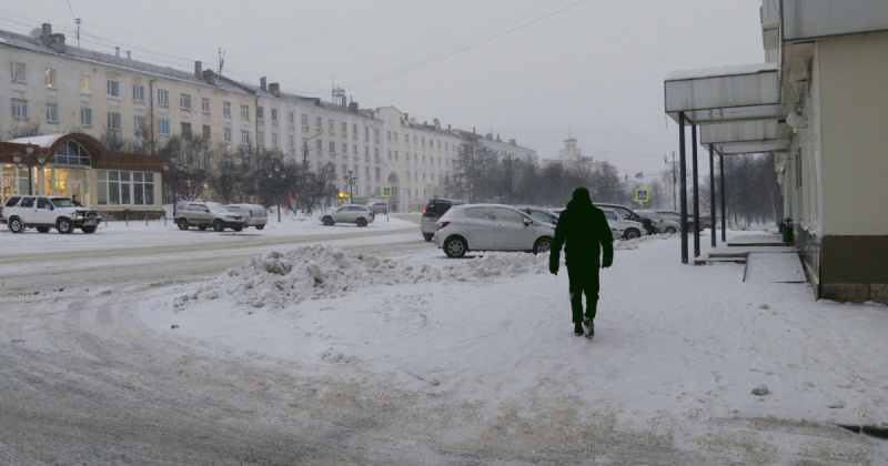
[{"label": "packed white snow covering the ground around the walking person", "polygon": [[[285,220],[263,234],[319,226]],[[374,227],[423,241],[404,220]],[[157,236],[141,231],[128,241]],[[678,235],[645,236],[616,243],[589,341],[573,335],[566,270],[549,274],[547,254],[355,252],[377,242],[261,251],[206,282],[147,291],[134,313],[195,352],[360,384],[393,406],[403,396],[396,412],[424,421],[391,421],[387,435],[417,448],[496,445],[544,463],[585,462],[569,453],[584,450],[604,452],[587,457],[602,464],[888,462],[888,442],[840,427],[888,426],[884,305],[744,281],[744,264],[682,264]]]}]

